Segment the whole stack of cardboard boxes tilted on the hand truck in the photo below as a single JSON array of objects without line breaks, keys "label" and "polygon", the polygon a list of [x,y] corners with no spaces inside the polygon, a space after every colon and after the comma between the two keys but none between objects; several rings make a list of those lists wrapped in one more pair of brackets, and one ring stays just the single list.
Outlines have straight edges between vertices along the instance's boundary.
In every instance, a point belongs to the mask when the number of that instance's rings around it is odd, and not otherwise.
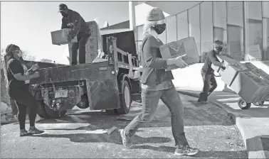
[{"label": "whole stack of cardboard boxes tilted on the hand truck", "polygon": [[245,64],[234,60],[228,55],[218,55],[220,62],[228,63],[225,70],[211,66],[221,74],[221,79],[245,102],[255,103],[269,98],[269,75],[250,62]]}]

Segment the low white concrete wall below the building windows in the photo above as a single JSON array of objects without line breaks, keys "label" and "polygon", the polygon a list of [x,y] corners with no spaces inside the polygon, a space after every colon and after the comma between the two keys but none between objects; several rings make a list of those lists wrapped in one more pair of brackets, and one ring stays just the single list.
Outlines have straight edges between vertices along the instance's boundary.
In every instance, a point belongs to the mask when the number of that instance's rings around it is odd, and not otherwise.
[{"label": "low white concrete wall below the building windows", "polygon": [[[269,75],[269,61],[255,61],[251,63]],[[201,77],[201,67],[203,65],[204,63],[197,63],[184,69],[172,70],[174,75],[174,86],[178,89],[202,89],[203,80]],[[230,87],[227,87],[226,84],[222,82],[221,77],[216,77],[216,81],[218,83],[216,91],[233,92]]]}]

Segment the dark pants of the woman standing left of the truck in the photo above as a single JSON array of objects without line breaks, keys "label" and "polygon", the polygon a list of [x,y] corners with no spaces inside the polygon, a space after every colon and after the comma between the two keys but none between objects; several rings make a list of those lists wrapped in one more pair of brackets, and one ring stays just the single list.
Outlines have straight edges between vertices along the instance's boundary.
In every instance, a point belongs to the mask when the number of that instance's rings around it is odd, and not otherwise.
[{"label": "dark pants of the woman standing left of the truck", "polygon": [[20,129],[25,129],[26,111],[28,108],[28,116],[30,126],[35,126],[37,102],[33,95],[28,92],[28,85],[25,87],[9,87],[9,97],[14,99],[18,108],[18,120]]}]

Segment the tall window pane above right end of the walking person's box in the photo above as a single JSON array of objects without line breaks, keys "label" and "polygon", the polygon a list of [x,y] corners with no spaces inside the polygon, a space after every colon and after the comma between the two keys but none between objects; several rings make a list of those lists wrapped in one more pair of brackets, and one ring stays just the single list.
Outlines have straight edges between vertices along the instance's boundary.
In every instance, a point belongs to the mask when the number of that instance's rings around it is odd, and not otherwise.
[{"label": "tall window pane above right end of the walking person's box", "polygon": [[189,15],[189,36],[194,37],[196,46],[201,56],[200,47],[200,8],[199,5],[194,6],[194,8],[188,10]]}]

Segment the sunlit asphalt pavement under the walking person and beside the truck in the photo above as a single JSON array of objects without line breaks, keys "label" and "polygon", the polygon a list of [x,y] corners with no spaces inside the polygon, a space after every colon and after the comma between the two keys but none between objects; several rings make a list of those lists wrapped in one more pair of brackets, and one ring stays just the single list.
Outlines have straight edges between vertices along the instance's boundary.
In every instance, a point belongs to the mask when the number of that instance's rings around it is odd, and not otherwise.
[{"label": "sunlit asphalt pavement under the walking person and beside the truck", "polygon": [[[153,121],[135,133],[132,149],[122,146],[119,133],[130,121],[75,107],[60,119],[38,121],[36,127],[45,131],[39,135],[19,137],[18,124],[2,125],[1,158],[247,158],[240,131],[226,111],[215,104],[197,106],[195,97],[180,97],[186,138],[201,150],[194,156],[174,155],[171,114],[160,100]],[[141,109],[133,102],[127,116],[133,119]],[[117,129],[108,135],[113,126]]]}]

